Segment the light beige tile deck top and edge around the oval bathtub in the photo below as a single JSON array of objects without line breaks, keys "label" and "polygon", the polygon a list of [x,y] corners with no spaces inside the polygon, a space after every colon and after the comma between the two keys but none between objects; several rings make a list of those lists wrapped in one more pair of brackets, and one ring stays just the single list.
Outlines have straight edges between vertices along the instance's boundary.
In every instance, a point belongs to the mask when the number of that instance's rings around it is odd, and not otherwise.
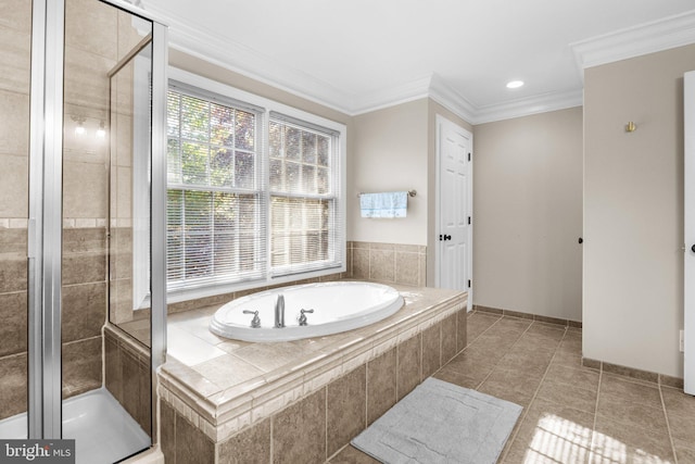
[{"label": "light beige tile deck top and edge around the oval bathtub", "polygon": [[214,306],[177,313],[170,321],[174,330],[187,331],[199,343],[207,344],[198,353],[208,352],[211,359],[197,359],[197,364],[186,366],[176,356],[169,358],[160,372],[163,398],[176,410],[185,410],[178,411],[181,414],[199,414],[202,423],[212,425],[205,427],[205,435],[220,442],[323,391],[331,381],[422,330],[439,330],[442,321],[466,304],[466,293],[392,286],[405,300],[394,315],[368,327],[291,342],[219,341],[200,333],[214,314]]}]

